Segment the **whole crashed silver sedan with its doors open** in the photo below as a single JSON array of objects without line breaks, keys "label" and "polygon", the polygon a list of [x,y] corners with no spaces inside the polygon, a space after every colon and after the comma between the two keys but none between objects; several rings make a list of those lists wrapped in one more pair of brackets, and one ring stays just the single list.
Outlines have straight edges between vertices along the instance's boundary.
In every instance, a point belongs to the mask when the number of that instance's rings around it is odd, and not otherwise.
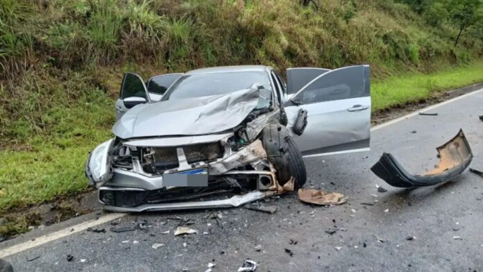
[{"label": "whole crashed silver sedan with its doors open", "polygon": [[237,207],[302,187],[303,157],[365,151],[367,65],[212,67],[155,76],[127,73],[115,135],[86,162],[105,210]]}]

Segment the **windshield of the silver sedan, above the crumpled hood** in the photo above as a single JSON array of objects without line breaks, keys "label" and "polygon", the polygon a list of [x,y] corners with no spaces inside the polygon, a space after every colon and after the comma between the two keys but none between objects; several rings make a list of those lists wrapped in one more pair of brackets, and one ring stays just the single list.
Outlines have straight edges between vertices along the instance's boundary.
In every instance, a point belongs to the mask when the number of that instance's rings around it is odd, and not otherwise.
[{"label": "windshield of the silver sedan, above the crumpled hood", "polygon": [[188,99],[228,94],[250,88],[254,83],[271,91],[268,74],[262,71],[237,71],[185,75],[176,80],[162,100]]}]

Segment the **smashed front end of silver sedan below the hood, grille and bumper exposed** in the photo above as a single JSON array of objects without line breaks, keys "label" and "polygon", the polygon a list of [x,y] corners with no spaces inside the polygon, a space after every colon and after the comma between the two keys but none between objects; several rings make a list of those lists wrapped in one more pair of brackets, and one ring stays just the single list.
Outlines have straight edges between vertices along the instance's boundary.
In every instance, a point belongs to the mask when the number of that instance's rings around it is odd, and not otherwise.
[{"label": "smashed front end of silver sedan below the hood, grille and bumper exposed", "polygon": [[277,126],[278,114],[258,112],[229,133],[111,140],[99,147],[108,146],[108,159],[99,159],[110,169],[108,180],[87,174],[98,148],[86,174],[105,210],[116,212],[237,207],[293,190],[293,180],[279,183],[260,139],[267,124]]}]

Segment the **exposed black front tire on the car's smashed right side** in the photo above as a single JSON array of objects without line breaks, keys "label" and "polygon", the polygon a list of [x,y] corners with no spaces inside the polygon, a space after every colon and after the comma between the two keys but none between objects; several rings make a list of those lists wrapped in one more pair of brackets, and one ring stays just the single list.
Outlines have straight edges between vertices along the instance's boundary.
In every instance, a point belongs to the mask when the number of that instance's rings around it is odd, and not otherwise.
[{"label": "exposed black front tire on the car's smashed right side", "polygon": [[295,178],[294,189],[302,187],[307,180],[307,171],[302,154],[285,126],[269,125],[262,132],[262,142],[269,161],[276,169],[280,185]]}]

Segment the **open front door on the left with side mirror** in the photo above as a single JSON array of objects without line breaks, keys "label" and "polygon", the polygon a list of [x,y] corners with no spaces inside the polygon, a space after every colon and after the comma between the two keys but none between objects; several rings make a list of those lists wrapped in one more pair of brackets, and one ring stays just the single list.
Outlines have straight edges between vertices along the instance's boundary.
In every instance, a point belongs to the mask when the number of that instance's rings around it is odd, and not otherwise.
[{"label": "open front door on the left with side mirror", "polygon": [[149,99],[148,90],[142,78],[133,73],[124,74],[119,99],[115,104],[116,119],[121,118],[125,112],[135,105],[146,102],[151,102],[151,99]]}]

